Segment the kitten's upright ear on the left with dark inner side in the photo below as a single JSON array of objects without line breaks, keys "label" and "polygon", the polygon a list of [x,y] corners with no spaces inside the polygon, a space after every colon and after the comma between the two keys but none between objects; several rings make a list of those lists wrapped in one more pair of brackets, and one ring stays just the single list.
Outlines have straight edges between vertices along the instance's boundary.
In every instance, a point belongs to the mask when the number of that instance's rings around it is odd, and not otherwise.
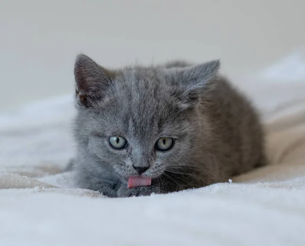
[{"label": "kitten's upright ear on the left with dark inner side", "polygon": [[86,107],[101,100],[111,85],[110,74],[105,68],[86,55],[77,56],[74,65],[76,98],[79,104]]}]

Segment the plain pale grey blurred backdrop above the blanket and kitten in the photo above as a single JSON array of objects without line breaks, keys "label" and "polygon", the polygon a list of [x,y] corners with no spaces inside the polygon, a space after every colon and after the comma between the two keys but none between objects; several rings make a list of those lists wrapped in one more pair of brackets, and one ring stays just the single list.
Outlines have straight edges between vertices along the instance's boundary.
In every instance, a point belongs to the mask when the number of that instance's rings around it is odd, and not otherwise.
[{"label": "plain pale grey blurred backdrop above the blanket and kitten", "polygon": [[251,73],[305,45],[304,0],[0,0],[0,110],[74,93],[83,52],[106,67],[221,58]]}]

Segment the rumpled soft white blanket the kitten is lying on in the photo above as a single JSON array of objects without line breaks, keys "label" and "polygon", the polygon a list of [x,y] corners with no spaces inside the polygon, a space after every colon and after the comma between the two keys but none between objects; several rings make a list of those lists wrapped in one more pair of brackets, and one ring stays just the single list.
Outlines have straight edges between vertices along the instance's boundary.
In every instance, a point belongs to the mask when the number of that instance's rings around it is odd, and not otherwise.
[{"label": "rumpled soft white blanket the kitten is lying on", "polygon": [[305,245],[305,57],[249,77],[234,81],[262,111],[271,165],[167,195],[71,188],[72,95],[2,113],[0,245]]}]

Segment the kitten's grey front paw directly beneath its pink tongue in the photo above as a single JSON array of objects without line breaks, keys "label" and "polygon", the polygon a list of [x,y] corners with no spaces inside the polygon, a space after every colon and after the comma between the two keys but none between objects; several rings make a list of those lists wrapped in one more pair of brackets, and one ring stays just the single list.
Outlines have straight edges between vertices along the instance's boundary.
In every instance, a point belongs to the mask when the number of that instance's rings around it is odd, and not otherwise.
[{"label": "kitten's grey front paw directly beneath its pink tongue", "polygon": [[117,196],[118,197],[149,196],[152,193],[160,193],[159,187],[155,185],[141,186],[134,188],[127,188],[127,186],[121,186],[117,191]]}]

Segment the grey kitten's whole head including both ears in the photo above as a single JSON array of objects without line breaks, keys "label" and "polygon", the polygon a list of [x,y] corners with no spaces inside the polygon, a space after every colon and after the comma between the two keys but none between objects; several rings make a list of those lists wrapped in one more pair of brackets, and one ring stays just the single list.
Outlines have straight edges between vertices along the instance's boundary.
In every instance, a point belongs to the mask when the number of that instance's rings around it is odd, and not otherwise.
[{"label": "grey kitten's whole head including both ears", "polygon": [[187,164],[203,139],[198,105],[213,87],[219,61],[185,68],[110,71],[85,55],[75,63],[75,135],[88,156],[122,179],[156,178]]}]

